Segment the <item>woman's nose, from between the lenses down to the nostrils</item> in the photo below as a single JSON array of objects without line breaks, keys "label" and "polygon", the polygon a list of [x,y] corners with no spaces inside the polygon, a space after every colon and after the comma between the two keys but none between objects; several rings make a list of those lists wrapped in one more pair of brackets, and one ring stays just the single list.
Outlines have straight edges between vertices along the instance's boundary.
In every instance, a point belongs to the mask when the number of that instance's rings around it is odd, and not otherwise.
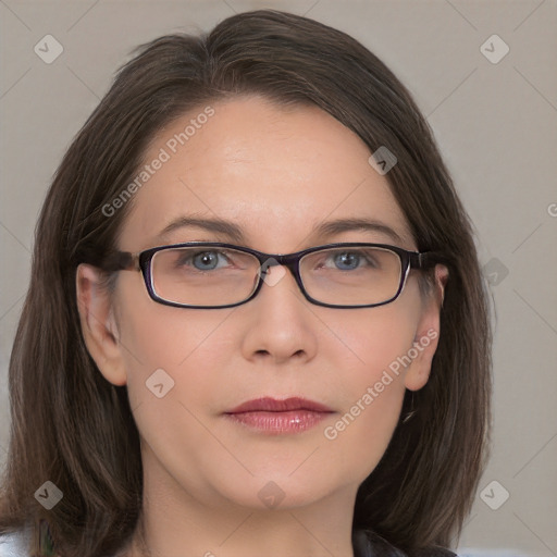
[{"label": "woman's nose, from between the lenses down to the nostrils", "polygon": [[289,269],[267,265],[258,295],[242,306],[244,357],[274,363],[312,359],[318,320],[309,305]]}]

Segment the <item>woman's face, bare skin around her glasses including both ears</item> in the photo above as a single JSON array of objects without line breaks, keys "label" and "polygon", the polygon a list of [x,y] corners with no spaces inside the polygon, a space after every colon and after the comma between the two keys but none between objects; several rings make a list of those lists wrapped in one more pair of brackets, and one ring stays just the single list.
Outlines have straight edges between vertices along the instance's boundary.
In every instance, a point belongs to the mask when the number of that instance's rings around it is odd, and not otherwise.
[{"label": "woman's face, bare skin around her glasses including both ears", "polygon": [[[211,107],[214,114],[198,119],[184,145],[172,138],[203,108],[151,143],[147,163],[161,149],[170,157],[135,194],[120,249],[185,242],[268,253],[344,242],[417,249],[386,176],[368,162],[369,149],[331,115],[259,97]],[[228,221],[242,237],[199,226],[161,234],[184,216]],[[375,221],[398,238],[377,230],[315,232],[345,219]],[[269,495],[283,508],[335,496],[354,504],[387,447],[405,389],[428,380],[438,308],[421,297],[416,273],[398,299],[375,308],[313,305],[286,272],[245,305],[208,310],[157,304],[141,274],[131,271],[120,272],[112,297],[103,298],[94,272],[82,265],[86,342],[107,380],[127,385],[146,481],[166,497],[206,508],[263,509]],[[101,322],[106,336],[95,325]],[[157,381],[150,379],[156,370],[163,370]],[[161,398],[147,386],[153,382],[163,385]],[[292,416],[306,426],[281,431],[258,426],[261,413],[247,424],[226,413],[262,397],[299,397],[329,412],[298,411]],[[282,416],[281,423],[289,423]]]}]

